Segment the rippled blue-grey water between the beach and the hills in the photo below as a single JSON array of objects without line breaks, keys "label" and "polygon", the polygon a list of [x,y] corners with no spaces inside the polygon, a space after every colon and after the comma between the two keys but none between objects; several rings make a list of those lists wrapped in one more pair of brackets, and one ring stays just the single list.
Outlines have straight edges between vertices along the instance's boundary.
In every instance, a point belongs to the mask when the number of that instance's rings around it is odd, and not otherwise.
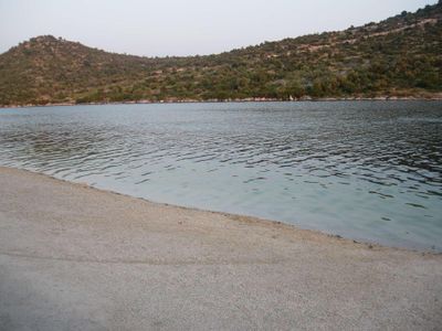
[{"label": "rippled blue-grey water between the beach and the hills", "polygon": [[0,109],[0,164],[442,252],[440,102]]}]

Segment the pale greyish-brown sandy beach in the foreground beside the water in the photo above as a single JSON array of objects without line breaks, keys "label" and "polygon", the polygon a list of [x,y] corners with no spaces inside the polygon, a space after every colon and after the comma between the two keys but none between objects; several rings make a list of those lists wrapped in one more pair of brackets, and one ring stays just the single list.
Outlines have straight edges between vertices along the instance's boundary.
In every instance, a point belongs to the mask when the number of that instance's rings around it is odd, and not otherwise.
[{"label": "pale greyish-brown sandy beach in the foreground beside the water", "polygon": [[442,255],[0,168],[0,330],[438,330]]}]

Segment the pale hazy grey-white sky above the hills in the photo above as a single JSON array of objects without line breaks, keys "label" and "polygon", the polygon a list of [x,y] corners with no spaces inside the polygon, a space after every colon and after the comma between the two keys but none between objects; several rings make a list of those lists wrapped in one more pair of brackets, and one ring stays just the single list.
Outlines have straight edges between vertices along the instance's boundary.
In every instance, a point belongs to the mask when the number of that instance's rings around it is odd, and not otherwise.
[{"label": "pale hazy grey-white sky above the hills", "polygon": [[436,0],[0,0],[0,53],[53,34],[137,55],[209,54],[379,21]]}]

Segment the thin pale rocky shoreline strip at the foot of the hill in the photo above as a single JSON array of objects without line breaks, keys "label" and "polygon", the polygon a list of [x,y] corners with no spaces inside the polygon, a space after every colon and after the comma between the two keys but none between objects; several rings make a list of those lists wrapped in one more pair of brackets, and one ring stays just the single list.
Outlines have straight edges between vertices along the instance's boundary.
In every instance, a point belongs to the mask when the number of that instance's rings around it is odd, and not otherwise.
[{"label": "thin pale rocky shoreline strip at the foot of the hill", "polygon": [[343,98],[312,98],[302,97],[293,100],[273,99],[273,98],[244,98],[244,99],[208,99],[208,100],[128,100],[128,102],[99,102],[99,103],[48,103],[27,104],[27,105],[0,105],[0,108],[30,108],[30,107],[60,107],[60,106],[101,106],[101,105],[156,105],[156,104],[225,104],[225,103],[324,103],[324,102],[404,102],[404,100],[422,100],[422,102],[440,102],[442,94],[431,97],[414,97],[414,96],[381,96],[381,97],[343,97]]}]

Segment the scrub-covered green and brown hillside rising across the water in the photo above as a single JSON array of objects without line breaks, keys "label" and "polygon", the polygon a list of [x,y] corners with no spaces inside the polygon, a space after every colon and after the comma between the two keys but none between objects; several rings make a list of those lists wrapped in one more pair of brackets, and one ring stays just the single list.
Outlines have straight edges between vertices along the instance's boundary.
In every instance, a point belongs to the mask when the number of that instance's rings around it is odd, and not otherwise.
[{"label": "scrub-covered green and brown hillside rising across the water", "polygon": [[51,35],[0,55],[0,105],[442,93],[442,3],[217,55],[141,57]]}]

